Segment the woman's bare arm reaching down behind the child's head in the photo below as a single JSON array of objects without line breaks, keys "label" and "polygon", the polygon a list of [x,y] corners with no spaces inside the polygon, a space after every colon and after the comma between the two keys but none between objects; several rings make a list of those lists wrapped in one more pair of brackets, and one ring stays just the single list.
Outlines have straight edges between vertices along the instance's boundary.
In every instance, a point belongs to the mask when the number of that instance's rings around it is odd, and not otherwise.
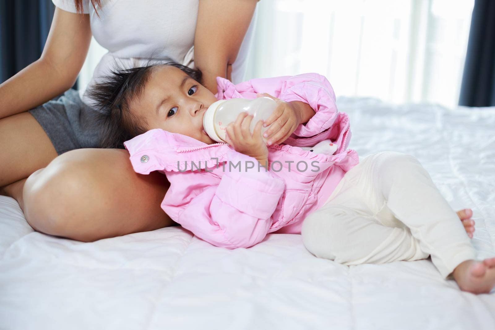
[{"label": "woman's bare arm reaching down behind the child's head", "polygon": [[194,61],[203,85],[217,93],[216,77],[230,80],[232,63],[251,22],[257,0],[201,0],[194,39]]}]

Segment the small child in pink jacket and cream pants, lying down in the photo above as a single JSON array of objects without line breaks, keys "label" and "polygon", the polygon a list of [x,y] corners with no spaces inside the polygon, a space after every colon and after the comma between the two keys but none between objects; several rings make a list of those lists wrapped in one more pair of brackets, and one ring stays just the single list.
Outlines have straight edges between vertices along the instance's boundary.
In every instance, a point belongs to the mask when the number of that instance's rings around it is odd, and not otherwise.
[{"label": "small child in pink jacket and cream pants, lying down", "polygon": [[[172,220],[227,248],[300,233],[308,251],[345,265],[431,255],[462,290],[493,288],[495,258],[475,260],[470,215],[461,218],[465,230],[414,157],[380,152],[358,162],[347,149],[349,120],[325,77],[238,85],[218,77],[216,95],[200,82],[198,70],[170,62],[114,72],[91,91],[102,146],[125,146],[136,172],[167,176],[161,207]],[[260,95],[278,105],[252,134],[247,113],[227,126],[227,143],[204,132],[204,112],[217,99]],[[261,126],[270,124],[264,143]]]}]

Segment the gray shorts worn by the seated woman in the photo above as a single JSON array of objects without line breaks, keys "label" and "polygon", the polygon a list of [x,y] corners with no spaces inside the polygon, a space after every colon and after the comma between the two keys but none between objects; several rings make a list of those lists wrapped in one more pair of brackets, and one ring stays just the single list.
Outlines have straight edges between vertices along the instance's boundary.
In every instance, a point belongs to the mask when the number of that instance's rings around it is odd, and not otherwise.
[{"label": "gray shorts worn by the seated woman", "polygon": [[70,89],[29,113],[43,127],[59,155],[73,149],[99,146],[96,112],[83,103],[76,90]]}]

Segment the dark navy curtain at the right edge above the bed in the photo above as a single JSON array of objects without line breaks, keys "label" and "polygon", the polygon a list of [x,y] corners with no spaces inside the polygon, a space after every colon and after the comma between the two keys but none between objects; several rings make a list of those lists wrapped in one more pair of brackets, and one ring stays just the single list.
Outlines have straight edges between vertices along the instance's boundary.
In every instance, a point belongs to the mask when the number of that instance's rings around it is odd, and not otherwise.
[{"label": "dark navy curtain at the right edge above the bed", "polygon": [[459,105],[495,105],[495,0],[475,0]]}]

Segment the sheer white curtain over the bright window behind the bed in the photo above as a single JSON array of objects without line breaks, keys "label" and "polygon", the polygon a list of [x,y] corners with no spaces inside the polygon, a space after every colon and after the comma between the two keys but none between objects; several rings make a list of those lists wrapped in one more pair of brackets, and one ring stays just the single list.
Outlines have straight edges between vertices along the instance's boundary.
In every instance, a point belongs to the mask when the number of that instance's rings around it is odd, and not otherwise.
[{"label": "sheer white curtain over the bright window behind the bed", "polygon": [[455,106],[474,0],[262,0],[247,79],[317,72],[337,95]]}]

